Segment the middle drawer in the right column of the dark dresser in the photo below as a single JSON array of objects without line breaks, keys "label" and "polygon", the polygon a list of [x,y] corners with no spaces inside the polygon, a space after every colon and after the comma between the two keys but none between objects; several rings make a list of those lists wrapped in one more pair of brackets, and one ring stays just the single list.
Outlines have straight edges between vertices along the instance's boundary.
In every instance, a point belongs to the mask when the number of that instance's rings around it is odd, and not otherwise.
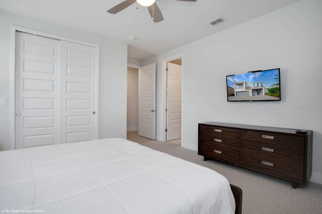
[{"label": "middle drawer in the right column of the dark dresser", "polygon": [[290,162],[299,167],[303,167],[304,164],[303,149],[240,140],[240,152],[247,153],[250,156],[260,156],[280,162]]}]

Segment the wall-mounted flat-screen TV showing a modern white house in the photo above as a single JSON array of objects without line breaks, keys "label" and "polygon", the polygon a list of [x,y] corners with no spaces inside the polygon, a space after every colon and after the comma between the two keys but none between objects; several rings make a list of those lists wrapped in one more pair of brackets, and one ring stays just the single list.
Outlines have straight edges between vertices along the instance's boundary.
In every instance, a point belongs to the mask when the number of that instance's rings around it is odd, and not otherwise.
[{"label": "wall-mounted flat-screen TV showing a modern white house", "polygon": [[227,101],[281,100],[280,69],[226,76]]}]

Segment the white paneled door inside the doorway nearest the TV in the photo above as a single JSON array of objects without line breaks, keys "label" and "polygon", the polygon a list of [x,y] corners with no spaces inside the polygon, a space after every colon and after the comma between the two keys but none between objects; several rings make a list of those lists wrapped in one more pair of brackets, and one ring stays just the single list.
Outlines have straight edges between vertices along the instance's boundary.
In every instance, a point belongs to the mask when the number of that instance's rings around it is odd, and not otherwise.
[{"label": "white paneled door inside the doorway nearest the TV", "polygon": [[181,65],[168,62],[167,141],[181,138]]}]

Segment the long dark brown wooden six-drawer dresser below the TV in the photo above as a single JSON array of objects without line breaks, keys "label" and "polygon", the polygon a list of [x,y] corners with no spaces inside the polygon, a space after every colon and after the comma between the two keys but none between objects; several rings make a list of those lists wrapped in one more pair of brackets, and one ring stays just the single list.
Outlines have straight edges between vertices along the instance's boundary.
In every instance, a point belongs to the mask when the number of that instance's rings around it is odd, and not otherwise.
[{"label": "long dark brown wooden six-drawer dresser below the TV", "polygon": [[198,124],[198,155],[292,182],[312,174],[312,131],[228,123]]}]

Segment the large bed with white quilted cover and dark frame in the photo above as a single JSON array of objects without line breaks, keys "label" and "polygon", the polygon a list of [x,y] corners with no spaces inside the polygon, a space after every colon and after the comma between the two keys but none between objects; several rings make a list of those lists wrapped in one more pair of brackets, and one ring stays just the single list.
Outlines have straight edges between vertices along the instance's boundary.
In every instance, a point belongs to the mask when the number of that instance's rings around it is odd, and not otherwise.
[{"label": "large bed with white quilted cover and dark frame", "polygon": [[221,174],[109,138],[0,152],[2,212],[240,213]]}]

